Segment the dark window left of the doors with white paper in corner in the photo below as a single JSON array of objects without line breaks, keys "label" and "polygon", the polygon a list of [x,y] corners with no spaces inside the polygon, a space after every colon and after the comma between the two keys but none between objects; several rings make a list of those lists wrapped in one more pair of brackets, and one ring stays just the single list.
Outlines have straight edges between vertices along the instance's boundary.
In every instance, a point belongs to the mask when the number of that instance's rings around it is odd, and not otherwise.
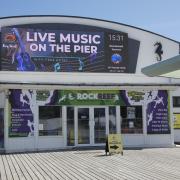
[{"label": "dark window left of the doors with white paper in corner", "polygon": [[39,107],[39,136],[62,135],[62,107]]}]

